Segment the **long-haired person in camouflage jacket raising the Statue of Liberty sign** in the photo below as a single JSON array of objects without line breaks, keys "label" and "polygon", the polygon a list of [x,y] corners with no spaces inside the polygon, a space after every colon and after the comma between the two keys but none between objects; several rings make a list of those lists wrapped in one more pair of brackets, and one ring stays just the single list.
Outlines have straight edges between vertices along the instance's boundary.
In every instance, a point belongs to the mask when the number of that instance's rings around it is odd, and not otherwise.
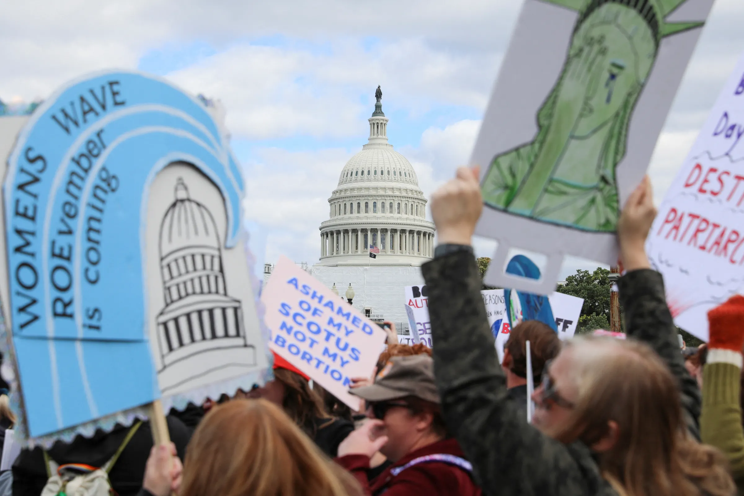
[{"label": "long-haired person in camouflage jacket raising the Statue of Liberty sign", "polygon": [[440,246],[422,267],[434,371],[447,427],[486,494],[730,496],[715,448],[702,445],[696,381],[684,368],[661,274],[644,243],[655,217],[648,178],[618,222],[618,280],[628,338],[580,338],[545,364],[532,425],[507,396],[481,299],[472,235],[478,169],[460,168],[432,197]]}]

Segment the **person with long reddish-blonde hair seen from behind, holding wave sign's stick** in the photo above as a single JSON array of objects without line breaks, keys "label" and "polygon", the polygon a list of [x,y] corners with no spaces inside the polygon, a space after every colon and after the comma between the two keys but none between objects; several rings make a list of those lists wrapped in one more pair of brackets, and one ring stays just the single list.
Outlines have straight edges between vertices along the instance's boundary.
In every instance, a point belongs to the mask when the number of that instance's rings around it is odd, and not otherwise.
[{"label": "person with long reddish-blonde hair seen from behind, holding wave sign's stick", "polygon": [[[157,455],[153,451],[153,457]],[[327,458],[280,407],[263,399],[233,400],[212,408],[193,433],[182,476],[170,467],[158,474],[150,465],[153,470],[143,486],[153,496],[168,496],[172,490],[179,496],[362,495],[350,474]],[[167,479],[168,470],[174,481]]]}]

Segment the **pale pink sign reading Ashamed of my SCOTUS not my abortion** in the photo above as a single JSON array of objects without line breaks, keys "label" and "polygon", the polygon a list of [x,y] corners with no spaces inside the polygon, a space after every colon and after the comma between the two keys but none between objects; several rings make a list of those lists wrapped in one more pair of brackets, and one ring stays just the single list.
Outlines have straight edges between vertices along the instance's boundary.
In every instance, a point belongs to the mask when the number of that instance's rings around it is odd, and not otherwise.
[{"label": "pale pink sign reading Ashamed of my SCOTUS not my abortion", "polygon": [[359,410],[350,378],[369,377],[387,335],[289,258],[281,257],[263,288],[269,348],[336,398]]}]

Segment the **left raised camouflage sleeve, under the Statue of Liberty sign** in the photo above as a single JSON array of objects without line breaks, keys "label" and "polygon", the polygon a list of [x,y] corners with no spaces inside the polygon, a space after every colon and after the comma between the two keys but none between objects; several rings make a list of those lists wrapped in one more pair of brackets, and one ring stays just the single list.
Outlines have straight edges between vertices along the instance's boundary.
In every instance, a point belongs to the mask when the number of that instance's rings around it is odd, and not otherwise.
[{"label": "left raised camouflage sleeve, under the Statue of Liberty sign", "polygon": [[435,258],[422,270],[443,415],[484,493],[597,494],[601,482],[589,450],[544,436],[507,398],[472,253]]}]

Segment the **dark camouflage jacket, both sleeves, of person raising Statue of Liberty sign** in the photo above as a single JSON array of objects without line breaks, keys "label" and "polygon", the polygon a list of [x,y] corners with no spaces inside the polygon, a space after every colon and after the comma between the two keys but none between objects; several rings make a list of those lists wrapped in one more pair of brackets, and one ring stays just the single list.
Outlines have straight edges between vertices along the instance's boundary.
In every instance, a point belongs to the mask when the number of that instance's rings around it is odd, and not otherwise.
[{"label": "dark camouflage jacket, both sleeves, of person raising Statue of Liberty sign", "polygon": [[[473,462],[475,480],[491,495],[610,496],[591,451],[543,435],[510,399],[481,298],[481,275],[469,252],[425,264],[434,373],[450,432]],[[682,384],[682,401],[697,432],[700,397],[687,375],[661,275],[637,270],[618,282],[629,334],[645,340]],[[688,381],[689,379],[689,381]]]}]

